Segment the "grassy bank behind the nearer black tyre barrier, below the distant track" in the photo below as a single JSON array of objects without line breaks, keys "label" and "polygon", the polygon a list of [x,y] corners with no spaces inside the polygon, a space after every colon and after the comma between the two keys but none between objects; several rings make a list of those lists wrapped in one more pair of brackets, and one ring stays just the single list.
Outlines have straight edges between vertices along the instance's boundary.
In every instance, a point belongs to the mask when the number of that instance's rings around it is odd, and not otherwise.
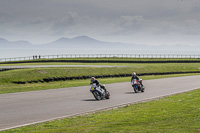
[{"label": "grassy bank behind the nearer black tyre barrier, below the distant track", "polygon": [[[102,64],[109,65],[109,64]],[[26,81],[26,80],[41,80],[49,77],[63,77],[63,76],[95,76],[95,75],[109,75],[109,74],[124,74],[132,73],[154,73],[154,72],[187,72],[200,71],[200,64],[198,63],[169,63],[169,64],[114,64],[124,65],[128,67],[108,67],[108,68],[94,68],[94,67],[59,67],[59,68],[29,68],[16,69],[0,73],[0,83],[12,83],[12,81]]]}]

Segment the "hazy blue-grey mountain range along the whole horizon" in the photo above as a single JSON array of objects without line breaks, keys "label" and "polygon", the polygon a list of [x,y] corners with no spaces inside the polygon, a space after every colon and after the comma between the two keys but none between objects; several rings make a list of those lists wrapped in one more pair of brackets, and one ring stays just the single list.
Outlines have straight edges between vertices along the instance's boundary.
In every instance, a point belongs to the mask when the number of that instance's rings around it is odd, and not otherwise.
[{"label": "hazy blue-grey mountain range along the whole horizon", "polygon": [[107,49],[196,49],[200,48],[198,46],[187,46],[187,45],[160,45],[151,46],[145,44],[128,44],[128,43],[118,43],[118,42],[104,42],[99,41],[88,36],[78,36],[75,38],[65,38],[62,37],[50,43],[33,45],[28,41],[8,41],[6,39],[0,38],[1,48],[107,48]]}]

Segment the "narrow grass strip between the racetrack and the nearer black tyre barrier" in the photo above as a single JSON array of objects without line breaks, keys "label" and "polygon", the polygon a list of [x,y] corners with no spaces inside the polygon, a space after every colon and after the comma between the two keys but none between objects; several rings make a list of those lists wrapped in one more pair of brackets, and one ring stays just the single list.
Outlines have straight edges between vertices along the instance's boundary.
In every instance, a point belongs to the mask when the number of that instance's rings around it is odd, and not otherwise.
[{"label": "narrow grass strip between the racetrack and the nearer black tyre barrier", "polygon": [[[141,76],[143,80],[169,78],[169,77],[180,77],[180,76],[191,76],[198,74],[173,74],[173,75],[157,75],[157,76]],[[124,78],[105,78],[98,79],[102,84],[119,83],[119,82],[130,82],[131,77]],[[72,81],[59,81],[50,83],[32,83],[32,84],[0,84],[0,94],[26,92],[26,91],[38,91],[47,89],[67,88],[89,85],[90,80],[72,80]]]}]

